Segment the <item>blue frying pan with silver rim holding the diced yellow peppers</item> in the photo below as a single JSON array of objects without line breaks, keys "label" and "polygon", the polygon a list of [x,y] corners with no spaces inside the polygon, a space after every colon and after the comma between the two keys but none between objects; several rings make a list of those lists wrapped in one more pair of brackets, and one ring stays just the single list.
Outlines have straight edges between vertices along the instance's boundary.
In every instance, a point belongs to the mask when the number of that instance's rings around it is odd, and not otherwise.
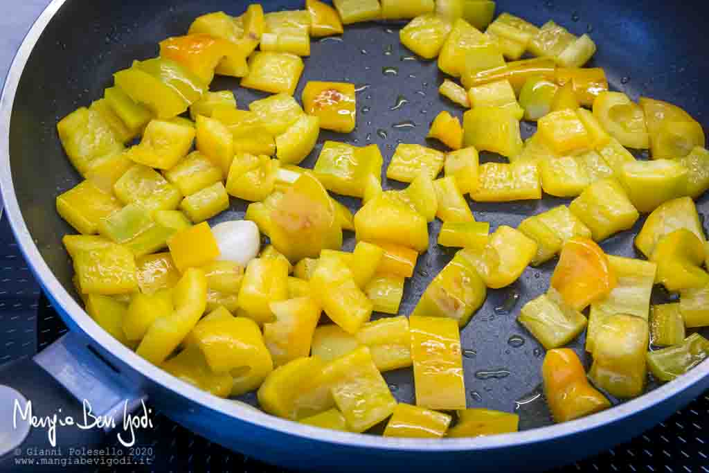
[{"label": "blue frying pan with silver rim holding the diced yellow peppers", "polygon": [[[299,9],[303,2],[263,3],[267,11],[274,11]],[[248,404],[255,404],[253,395],[240,402],[216,399],[113,340],[86,315],[72,289],[72,265],[60,243],[61,236],[72,230],[55,212],[55,197],[77,184],[79,175],[62,152],[55,124],[78,106],[98,99],[111,86],[113,72],[128,67],[134,59],[157,55],[157,42],[184,34],[196,16],[219,10],[240,14],[246,5],[246,1],[233,0],[54,0],[28,33],[0,103],[2,196],[23,254],[72,332],[34,361],[0,372],[0,384],[11,384],[26,399],[46,399],[50,405],[56,405],[50,402],[54,396],[55,403],[65,403],[59,404],[65,412],[72,408],[66,405],[72,401],[67,392],[94,401],[95,413],[117,413],[121,399],[130,401],[130,409],[147,396],[152,406],[196,433],[286,467],[424,471],[445,465],[479,472],[542,469],[592,455],[662,421],[709,388],[709,364],[705,363],[674,382],[650,386],[638,399],[578,421],[552,425],[538,396],[543,351],[515,318],[520,306],[547,289],[554,262],[528,268],[510,288],[490,291],[485,306],[462,331],[468,405],[505,411],[516,407],[523,431],[510,435],[408,440],[311,428],[252,408]],[[704,79],[709,77],[709,58],[700,53],[705,39],[697,22],[709,17],[706,2],[501,0],[498,11],[510,11],[539,25],[553,19],[576,34],[590,32],[598,44],[593,62],[605,68],[613,89],[633,99],[642,93],[671,101],[706,126],[702,108],[707,105]],[[413,58],[399,45],[398,28],[401,25],[396,23],[353,26],[347,28],[343,40],[313,43],[296,96],[308,80],[355,82],[360,86],[359,116],[357,130],[350,135],[321,133],[318,148],[304,165],[313,165],[324,140],[335,139],[355,145],[379,144],[386,168],[397,143],[435,146],[424,137],[438,112],[461,115],[459,108],[437,94],[443,77],[435,62]],[[213,83],[213,89],[234,89],[242,108],[264,96],[237,86],[229,79]],[[533,130],[523,124],[525,138]],[[483,160],[498,159],[483,154]],[[396,182],[386,185],[398,187]],[[357,201],[342,202],[357,208]],[[562,203],[567,201],[545,197],[523,203],[470,204],[476,218],[490,221],[494,229],[517,226],[525,216]],[[242,217],[245,206],[233,200],[230,210],[216,221]],[[706,213],[709,203],[700,199],[698,208]],[[604,249],[613,255],[637,257],[632,238],[641,225],[642,221],[631,232],[605,241]],[[430,279],[452,258],[452,252],[435,245],[439,227],[440,223],[432,223],[431,249],[420,257],[415,278],[406,284],[400,313],[411,313]],[[346,237],[351,248],[354,235]],[[666,299],[658,293],[653,302]],[[583,337],[571,345],[588,364],[583,346]],[[55,379],[61,389],[53,387]],[[386,379],[399,401],[414,401],[410,370],[386,374]],[[36,409],[41,408],[39,404]],[[79,435],[74,430],[65,428],[59,436],[89,442],[88,433],[73,438]],[[46,443],[41,435],[33,431],[26,442]]]}]

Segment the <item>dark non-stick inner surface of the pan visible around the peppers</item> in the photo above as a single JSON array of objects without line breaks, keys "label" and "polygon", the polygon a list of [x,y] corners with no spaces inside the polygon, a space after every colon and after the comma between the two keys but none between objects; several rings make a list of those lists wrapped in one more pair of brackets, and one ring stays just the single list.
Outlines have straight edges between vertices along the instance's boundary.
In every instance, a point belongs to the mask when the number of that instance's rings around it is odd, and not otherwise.
[{"label": "dark non-stick inner surface of the pan visible around the peppers", "polygon": [[[300,9],[303,1],[263,4],[267,11]],[[45,29],[16,94],[11,119],[11,172],[30,234],[67,290],[72,290],[72,266],[60,238],[72,233],[72,229],[57,215],[55,197],[77,184],[79,174],[62,151],[55,128],[57,121],[78,106],[88,106],[99,99],[113,83],[113,72],[130,66],[135,59],[157,55],[157,43],[185,34],[196,16],[219,10],[237,15],[246,6],[246,1],[73,0],[61,7]],[[678,104],[706,129],[703,108],[709,58],[700,31],[702,19],[709,18],[706,2],[679,5],[642,0],[520,0],[499,1],[498,11],[523,16],[537,25],[553,19],[577,35],[591,33],[598,45],[592,65],[605,68],[613,89],[625,91],[633,99],[643,94]],[[342,41],[331,38],[313,42],[296,97],[308,80],[345,80],[362,86],[362,90],[357,94],[354,133],[323,131],[318,147],[303,165],[311,167],[324,140],[333,139],[354,145],[378,144],[385,159],[384,171],[398,143],[437,146],[425,140],[430,121],[437,113],[448,110],[462,116],[462,109],[437,94],[444,76],[435,62],[413,59],[413,54],[399,43],[399,28],[401,24],[354,26],[347,28]],[[212,88],[234,89],[240,108],[265,96],[239,89],[233,79],[217,79]],[[408,103],[391,110],[399,96]],[[415,127],[394,126],[408,121]],[[533,130],[530,124],[523,123],[523,138]],[[496,159],[499,158],[482,153],[483,161]],[[399,188],[401,184],[385,180],[385,187]],[[359,205],[358,200],[340,200],[352,210]],[[470,202],[476,219],[489,221],[492,230],[500,225],[518,226],[526,216],[562,203],[568,201],[545,197],[525,203]],[[700,213],[709,212],[706,198],[700,199],[698,206]],[[216,220],[240,218],[245,208],[245,202],[232,199],[230,211]],[[632,231],[605,241],[604,249],[613,255],[638,257],[632,238],[643,220]],[[411,313],[430,279],[453,255],[435,245],[439,229],[440,222],[430,226],[430,250],[419,258],[415,277],[406,284],[400,313]],[[351,249],[354,234],[347,232],[345,236],[347,248]],[[527,268],[513,286],[489,291],[484,307],[462,331],[469,406],[511,411],[515,401],[525,399],[540,383],[542,347],[515,319],[525,302],[547,289],[554,265],[555,260],[539,268]],[[521,346],[517,335],[524,340]],[[572,344],[579,355],[584,355],[583,343],[581,337]],[[414,400],[411,370],[388,374],[387,380],[399,400]],[[527,411],[542,407],[532,402]],[[523,428],[548,422],[543,409],[540,415],[527,411],[523,408]]]}]

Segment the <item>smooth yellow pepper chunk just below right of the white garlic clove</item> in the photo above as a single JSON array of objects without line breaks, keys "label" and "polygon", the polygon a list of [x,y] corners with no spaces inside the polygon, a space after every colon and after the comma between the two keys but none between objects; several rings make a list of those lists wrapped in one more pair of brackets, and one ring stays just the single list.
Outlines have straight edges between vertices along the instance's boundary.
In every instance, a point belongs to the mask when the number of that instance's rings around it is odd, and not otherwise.
[{"label": "smooth yellow pepper chunk just below right of the white garlic clove", "polygon": [[256,258],[246,267],[239,290],[239,307],[257,323],[274,320],[270,304],[288,299],[288,265],[274,258]]}]

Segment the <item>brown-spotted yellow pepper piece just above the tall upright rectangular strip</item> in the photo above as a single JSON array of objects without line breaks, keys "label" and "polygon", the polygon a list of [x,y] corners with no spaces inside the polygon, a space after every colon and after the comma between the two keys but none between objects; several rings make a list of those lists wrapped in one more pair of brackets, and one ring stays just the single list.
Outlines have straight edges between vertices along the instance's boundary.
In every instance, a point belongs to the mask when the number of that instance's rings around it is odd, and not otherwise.
[{"label": "brown-spotted yellow pepper piece just above the tall upright rectangular strip", "polygon": [[459,252],[430,282],[414,316],[452,318],[462,327],[485,301],[487,289],[475,266]]}]

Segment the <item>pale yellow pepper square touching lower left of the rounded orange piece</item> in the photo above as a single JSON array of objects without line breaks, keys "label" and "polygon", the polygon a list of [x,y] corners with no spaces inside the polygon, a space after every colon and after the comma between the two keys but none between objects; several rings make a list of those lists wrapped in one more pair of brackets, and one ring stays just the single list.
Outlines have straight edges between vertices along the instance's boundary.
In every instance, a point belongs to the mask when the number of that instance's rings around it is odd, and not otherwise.
[{"label": "pale yellow pepper square touching lower left of the rounded orange piece", "polygon": [[527,302],[517,320],[547,350],[570,343],[584,331],[588,323],[586,317],[566,304],[554,288]]}]

